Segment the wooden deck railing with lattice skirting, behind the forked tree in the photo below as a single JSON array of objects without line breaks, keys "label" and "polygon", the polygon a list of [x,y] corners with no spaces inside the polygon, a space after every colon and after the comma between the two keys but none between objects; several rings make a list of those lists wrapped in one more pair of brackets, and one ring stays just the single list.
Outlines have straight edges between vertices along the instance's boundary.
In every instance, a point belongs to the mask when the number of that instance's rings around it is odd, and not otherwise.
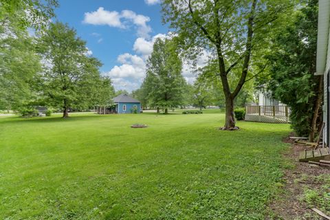
[{"label": "wooden deck railing with lattice skirting, behind the forked tree", "polygon": [[248,105],[245,120],[265,123],[289,123],[290,109],[286,105]]}]

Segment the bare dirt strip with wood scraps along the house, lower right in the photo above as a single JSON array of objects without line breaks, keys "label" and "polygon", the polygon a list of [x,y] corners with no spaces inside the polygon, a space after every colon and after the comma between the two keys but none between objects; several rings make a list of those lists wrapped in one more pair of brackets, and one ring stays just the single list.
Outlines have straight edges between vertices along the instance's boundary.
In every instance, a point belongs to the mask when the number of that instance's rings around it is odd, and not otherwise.
[{"label": "bare dirt strip with wood scraps along the house, lower right", "polygon": [[[327,196],[330,195],[330,188],[327,190],[329,184],[330,168],[324,168],[305,162],[298,162],[298,156],[301,151],[307,148],[303,144],[296,144],[294,140],[285,137],[283,142],[292,144],[290,151],[285,153],[285,157],[294,163],[294,168],[285,171],[283,193],[278,195],[278,198],[270,204],[271,213],[267,219],[323,219],[316,214],[311,208],[318,208],[329,214],[329,206],[327,206]],[[307,201],[307,190],[314,192],[316,199],[323,199],[325,202],[320,205],[318,200]],[[308,196],[308,195],[307,195]],[[320,198],[319,198],[320,197]],[[312,198],[313,199],[313,198]],[[325,206],[325,207],[323,207]]]}]

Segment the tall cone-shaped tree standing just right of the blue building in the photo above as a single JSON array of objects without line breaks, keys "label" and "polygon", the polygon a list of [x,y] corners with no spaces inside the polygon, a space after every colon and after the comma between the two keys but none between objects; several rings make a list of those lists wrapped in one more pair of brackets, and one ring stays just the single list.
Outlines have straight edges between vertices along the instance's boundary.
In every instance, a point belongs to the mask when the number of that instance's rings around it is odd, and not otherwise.
[{"label": "tall cone-shaped tree standing just right of the blue building", "polygon": [[144,86],[152,107],[164,109],[177,107],[184,101],[186,80],[181,75],[182,62],[174,41],[157,39],[153,52],[146,62]]}]

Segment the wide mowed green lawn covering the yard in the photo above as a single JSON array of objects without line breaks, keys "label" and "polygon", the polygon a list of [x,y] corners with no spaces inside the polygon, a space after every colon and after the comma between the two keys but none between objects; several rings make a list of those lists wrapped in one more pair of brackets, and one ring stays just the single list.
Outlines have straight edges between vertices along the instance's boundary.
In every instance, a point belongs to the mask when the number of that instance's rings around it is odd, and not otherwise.
[{"label": "wide mowed green lawn covering the yard", "polygon": [[289,125],[214,112],[1,117],[0,219],[264,219]]}]

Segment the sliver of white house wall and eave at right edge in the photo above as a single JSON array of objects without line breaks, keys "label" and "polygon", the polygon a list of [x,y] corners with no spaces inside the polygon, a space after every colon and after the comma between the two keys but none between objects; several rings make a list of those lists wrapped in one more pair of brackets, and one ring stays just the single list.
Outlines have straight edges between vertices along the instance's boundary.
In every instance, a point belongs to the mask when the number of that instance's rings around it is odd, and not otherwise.
[{"label": "sliver of white house wall and eave at right edge", "polygon": [[329,146],[329,131],[330,131],[330,0],[318,1],[318,50],[316,58],[316,75],[323,75],[325,82],[325,95],[323,105],[323,121],[325,122],[325,129],[323,131],[323,140]]}]

